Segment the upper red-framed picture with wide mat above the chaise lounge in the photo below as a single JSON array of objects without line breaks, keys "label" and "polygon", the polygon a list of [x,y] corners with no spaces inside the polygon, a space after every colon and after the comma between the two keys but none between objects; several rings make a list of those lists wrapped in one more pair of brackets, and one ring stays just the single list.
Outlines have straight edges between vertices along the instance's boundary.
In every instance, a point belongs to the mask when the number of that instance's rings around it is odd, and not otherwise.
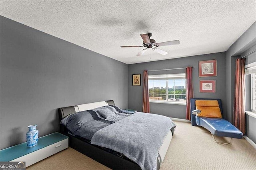
[{"label": "upper red-framed picture with wide mat above the chaise lounge", "polygon": [[199,77],[217,76],[217,60],[199,61]]}]

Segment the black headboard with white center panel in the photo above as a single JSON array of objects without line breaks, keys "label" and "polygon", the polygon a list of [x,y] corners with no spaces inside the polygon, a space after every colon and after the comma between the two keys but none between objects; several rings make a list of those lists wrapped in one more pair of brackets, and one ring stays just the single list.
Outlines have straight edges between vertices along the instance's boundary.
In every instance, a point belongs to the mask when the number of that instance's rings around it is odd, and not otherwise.
[{"label": "black headboard with white center panel", "polygon": [[80,104],[80,105],[76,105],[76,106],[69,106],[69,107],[61,107],[58,109],[59,112],[59,117],[60,117],[60,121],[72,114],[72,113],[76,113],[79,111],[85,111],[85,110],[90,110],[90,109],[95,109],[97,107],[102,107],[102,106],[108,106],[108,105],[115,105],[113,100],[108,100],[108,101],[102,101],[102,102],[94,102],[94,103],[88,103],[88,104]]}]

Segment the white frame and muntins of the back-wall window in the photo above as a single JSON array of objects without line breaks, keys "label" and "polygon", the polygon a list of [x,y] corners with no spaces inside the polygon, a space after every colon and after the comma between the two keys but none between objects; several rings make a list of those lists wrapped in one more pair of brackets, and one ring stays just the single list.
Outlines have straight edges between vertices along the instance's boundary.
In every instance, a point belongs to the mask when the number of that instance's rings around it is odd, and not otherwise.
[{"label": "white frame and muntins of the back-wall window", "polygon": [[[159,76],[159,79],[155,78]],[[162,78],[161,78],[162,77]],[[155,79],[154,79],[155,78]],[[164,79],[166,78],[166,79]],[[178,79],[180,78],[180,79]],[[150,103],[164,103],[164,104],[180,104],[180,105],[186,105],[186,100],[184,101],[175,101],[175,96],[179,95],[181,96],[181,98],[186,98],[186,94],[183,94],[181,92],[181,94],[175,94],[175,88],[174,88],[174,94],[168,94],[168,80],[174,80],[174,87],[175,87],[175,79],[181,80],[181,87],[184,85],[185,88],[181,88],[181,91],[183,92],[183,89],[186,90],[186,74],[185,73],[180,73],[180,74],[160,74],[160,75],[149,75],[148,76],[148,81],[153,80],[153,93],[150,93],[148,88],[148,94],[150,95],[159,95],[159,97],[161,97],[161,95],[165,95],[166,96],[166,100],[154,100],[154,99],[149,99]],[[158,80],[159,81],[159,94],[155,94],[155,85],[154,85],[154,80]],[[165,80],[166,81],[166,93],[165,94],[161,94],[161,80]],[[184,81],[183,81],[184,80]],[[184,84],[183,84],[184,83]],[[174,95],[174,101],[168,101],[168,96],[169,95]]]}]

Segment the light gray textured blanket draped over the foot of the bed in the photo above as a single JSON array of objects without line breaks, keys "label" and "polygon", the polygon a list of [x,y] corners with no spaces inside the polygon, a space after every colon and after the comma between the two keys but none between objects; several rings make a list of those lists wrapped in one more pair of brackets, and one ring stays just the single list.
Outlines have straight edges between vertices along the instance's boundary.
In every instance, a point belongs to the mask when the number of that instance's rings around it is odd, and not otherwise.
[{"label": "light gray textured blanket draped over the foot of the bed", "polygon": [[142,170],[156,170],[158,150],[173,127],[166,116],[136,112],[98,130],[91,144],[124,154]]}]

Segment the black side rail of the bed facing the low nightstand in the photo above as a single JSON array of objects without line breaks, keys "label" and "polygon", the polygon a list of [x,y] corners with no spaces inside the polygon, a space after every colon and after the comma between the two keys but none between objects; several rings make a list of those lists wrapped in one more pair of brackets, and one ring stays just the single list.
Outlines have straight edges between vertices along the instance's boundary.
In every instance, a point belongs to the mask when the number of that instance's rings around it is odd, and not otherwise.
[{"label": "black side rail of the bed facing the low nightstand", "polygon": [[140,166],[132,161],[126,160],[106,150],[100,149],[94,145],[86,143],[68,133],[63,133],[69,137],[68,146],[78,152],[96,160],[97,162],[111,168],[113,170],[141,170]]}]

